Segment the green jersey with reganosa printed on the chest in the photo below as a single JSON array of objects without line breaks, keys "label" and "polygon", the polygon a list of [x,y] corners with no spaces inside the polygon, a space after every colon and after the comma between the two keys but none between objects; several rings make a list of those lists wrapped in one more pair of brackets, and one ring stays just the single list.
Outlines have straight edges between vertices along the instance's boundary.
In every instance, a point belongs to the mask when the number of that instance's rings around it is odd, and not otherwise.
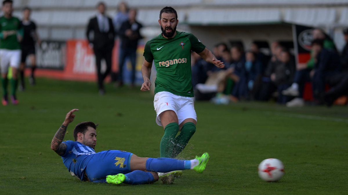
[{"label": "green jersey with reganosa printed on the chest", "polygon": [[144,58],[155,61],[157,77],[155,94],[161,91],[193,97],[191,83],[191,50],[200,53],[205,46],[191,33],[176,31],[171,39],[162,34],[145,44]]}]

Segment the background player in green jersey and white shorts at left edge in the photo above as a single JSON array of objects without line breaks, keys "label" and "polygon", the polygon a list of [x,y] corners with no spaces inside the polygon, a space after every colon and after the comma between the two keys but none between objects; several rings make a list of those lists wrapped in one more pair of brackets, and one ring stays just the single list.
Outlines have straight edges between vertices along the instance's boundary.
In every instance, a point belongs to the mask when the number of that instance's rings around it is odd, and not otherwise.
[{"label": "background player in green jersey and white shorts at left edge", "polygon": [[18,104],[16,98],[17,90],[17,69],[21,60],[21,45],[19,40],[23,37],[23,28],[18,18],[12,16],[12,0],[2,1],[3,16],[0,17],[0,71],[2,84],[2,105],[8,104],[7,96],[7,72],[8,67],[12,68],[11,101]]}]

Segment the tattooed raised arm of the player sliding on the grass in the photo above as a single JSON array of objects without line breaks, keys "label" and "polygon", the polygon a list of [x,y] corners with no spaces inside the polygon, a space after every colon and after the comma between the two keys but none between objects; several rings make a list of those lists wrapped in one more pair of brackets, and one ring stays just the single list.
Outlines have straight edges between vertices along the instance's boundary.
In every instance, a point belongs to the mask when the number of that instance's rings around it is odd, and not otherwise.
[{"label": "tattooed raised arm of the player sliding on the grass", "polygon": [[57,130],[56,134],[52,139],[51,149],[54,150],[60,156],[65,154],[66,145],[64,143],[62,144],[62,142],[65,136],[66,128],[75,118],[75,115],[73,114],[75,111],[79,111],[79,109],[72,109],[66,114],[62,126]]}]

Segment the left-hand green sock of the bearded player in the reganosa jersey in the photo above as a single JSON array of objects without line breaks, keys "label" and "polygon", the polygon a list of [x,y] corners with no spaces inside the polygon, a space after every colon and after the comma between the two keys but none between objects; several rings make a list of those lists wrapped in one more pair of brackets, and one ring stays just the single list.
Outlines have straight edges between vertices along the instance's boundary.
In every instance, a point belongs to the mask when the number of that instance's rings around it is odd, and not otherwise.
[{"label": "left-hand green sock of the bearded player in the reganosa jersey", "polygon": [[179,125],[176,122],[169,123],[164,128],[164,135],[159,147],[161,157],[171,158],[174,149],[174,139],[177,132],[179,132]]}]

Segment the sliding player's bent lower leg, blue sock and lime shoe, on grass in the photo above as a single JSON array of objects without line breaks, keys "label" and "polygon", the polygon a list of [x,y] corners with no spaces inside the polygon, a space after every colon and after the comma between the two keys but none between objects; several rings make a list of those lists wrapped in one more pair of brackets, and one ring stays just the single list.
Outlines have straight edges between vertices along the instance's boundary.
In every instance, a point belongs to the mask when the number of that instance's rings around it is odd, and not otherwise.
[{"label": "sliding player's bent lower leg, blue sock and lime shoe, on grass", "polygon": [[109,184],[150,184],[158,180],[156,172],[147,172],[141,170],[135,170],[127,174],[119,173],[117,175],[106,176],[106,182]]}]

